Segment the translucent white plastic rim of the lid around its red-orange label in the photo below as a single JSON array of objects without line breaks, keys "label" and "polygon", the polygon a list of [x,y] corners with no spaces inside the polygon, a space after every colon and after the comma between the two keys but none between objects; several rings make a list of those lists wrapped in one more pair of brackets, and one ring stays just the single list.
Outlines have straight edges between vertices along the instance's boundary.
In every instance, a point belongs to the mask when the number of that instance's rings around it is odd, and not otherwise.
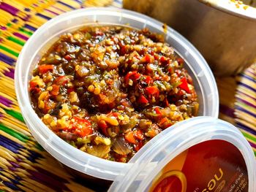
[{"label": "translucent white plastic rim of the lid around its red-orange label", "polygon": [[256,161],[252,147],[238,128],[211,117],[191,118],[162,131],[151,139],[150,145],[145,145],[135,154],[129,161],[132,164],[130,169],[116,177],[108,191],[146,191],[159,171],[178,154],[200,142],[213,139],[230,142],[238,148],[246,164],[249,191],[255,191]]}]

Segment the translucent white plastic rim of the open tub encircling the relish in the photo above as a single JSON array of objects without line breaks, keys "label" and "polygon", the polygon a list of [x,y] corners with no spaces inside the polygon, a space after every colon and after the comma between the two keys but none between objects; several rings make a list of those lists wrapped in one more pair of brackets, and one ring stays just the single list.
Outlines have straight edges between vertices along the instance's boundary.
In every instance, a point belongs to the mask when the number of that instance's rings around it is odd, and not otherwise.
[{"label": "translucent white plastic rim of the open tub encircling the relish", "polygon": [[[64,142],[42,123],[32,109],[29,99],[28,82],[31,71],[44,51],[48,49],[47,47],[50,47],[60,34],[95,23],[99,25],[129,24],[133,28],[147,27],[150,31],[157,33],[162,33],[163,25],[146,15],[116,8],[78,9],[59,15],[37,29],[23,47],[15,69],[15,91],[20,110],[31,134],[48,153],[62,164],[79,172],[104,180],[115,180],[116,176],[129,168],[128,164],[97,158]],[[170,43],[187,62],[187,69],[192,74],[200,101],[200,115],[216,118],[219,113],[219,95],[208,64],[195,47],[172,28],[167,28],[165,37],[166,42]]]}]

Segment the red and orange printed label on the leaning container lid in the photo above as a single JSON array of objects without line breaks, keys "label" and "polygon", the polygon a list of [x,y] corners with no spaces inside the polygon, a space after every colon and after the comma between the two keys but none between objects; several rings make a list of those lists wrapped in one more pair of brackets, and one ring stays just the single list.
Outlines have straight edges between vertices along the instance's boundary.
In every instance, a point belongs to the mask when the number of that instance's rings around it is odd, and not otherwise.
[{"label": "red and orange printed label on the leaning container lid", "polygon": [[246,164],[238,148],[229,142],[202,142],[173,158],[155,177],[149,191],[248,191]]}]

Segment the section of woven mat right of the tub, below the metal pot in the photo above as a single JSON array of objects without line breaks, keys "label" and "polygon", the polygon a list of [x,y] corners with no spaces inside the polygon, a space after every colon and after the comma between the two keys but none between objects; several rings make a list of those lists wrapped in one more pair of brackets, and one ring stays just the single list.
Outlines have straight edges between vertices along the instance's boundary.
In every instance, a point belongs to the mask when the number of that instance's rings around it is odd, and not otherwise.
[{"label": "section of woven mat right of the tub, below the metal pot", "polygon": [[219,118],[238,127],[256,157],[256,64],[236,77],[217,77]]}]

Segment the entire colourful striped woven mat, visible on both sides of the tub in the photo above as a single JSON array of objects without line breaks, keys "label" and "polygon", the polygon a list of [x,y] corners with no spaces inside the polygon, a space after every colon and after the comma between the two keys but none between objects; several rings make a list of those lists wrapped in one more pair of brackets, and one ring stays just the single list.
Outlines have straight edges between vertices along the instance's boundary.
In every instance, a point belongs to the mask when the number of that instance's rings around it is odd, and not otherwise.
[{"label": "entire colourful striped woven mat, visible on both sides of the tub", "polygon": [[[39,26],[63,12],[81,7],[107,6],[110,2],[0,1],[0,191],[91,191],[67,174],[31,137],[20,114],[13,78],[20,50]],[[120,0],[113,1],[112,6],[120,6]],[[254,151],[255,69],[256,65],[253,65],[238,76],[237,93],[235,78],[217,79],[220,118],[236,123]]]}]

